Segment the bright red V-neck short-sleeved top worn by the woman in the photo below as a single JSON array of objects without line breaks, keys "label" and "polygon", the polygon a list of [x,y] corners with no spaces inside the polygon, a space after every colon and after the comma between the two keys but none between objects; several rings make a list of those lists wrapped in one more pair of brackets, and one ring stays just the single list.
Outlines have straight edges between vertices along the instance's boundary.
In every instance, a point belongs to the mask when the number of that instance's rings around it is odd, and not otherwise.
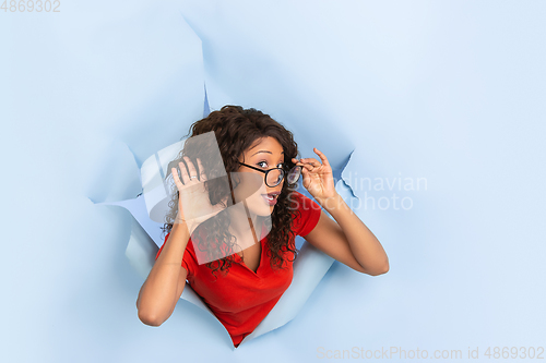
[{"label": "bright red V-neck short-sleeved top worn by the woman", "polygon": [[[317,226],[321,208],[317,203],[298,192],[294,192],[292,199],[297,202],[299,209],[299,215],[293,221],[292,230],[298,235],[306,235]],[[165,237],[165,242],[169,234]],[[217,270],[213,276],[206,264],[198,264],[193,243],[190,241],[182,258],[182,267],[188,271],[186,279],[226,327],[234,346],[238,347],[242,339],[263,320],[290,286],[293,263],[288,258],[292,259],[294,256],[289,252],[281,251],[280,253],[286,261],[283,264],[284,268],[272,269],[271,257],[268,255],[268,238],[262,237],[260,265],[256,273],[245,265],[238,254],[235,254],[235,262],[229,267],[228,273],[224,275]],[[294,239],[290,241],[290,245],[295,246]],[[163,246],[157,252],[156,259],[162,253]]]}]

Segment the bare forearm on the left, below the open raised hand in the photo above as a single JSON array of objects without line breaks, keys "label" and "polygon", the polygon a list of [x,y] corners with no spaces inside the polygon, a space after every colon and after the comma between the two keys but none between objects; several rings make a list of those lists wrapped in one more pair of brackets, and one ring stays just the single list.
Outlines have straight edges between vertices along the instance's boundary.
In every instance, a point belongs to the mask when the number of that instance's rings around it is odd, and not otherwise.
[{"label": "bare forearm on the left, below the open raised hand", "polygon": [[153,322],[151,325],[161,325],[173,313],[178,301],[178,279],[188,241],[189,232],[186,223],[175,223],[162,253],[139,292],[136,308],[141,320]]}]

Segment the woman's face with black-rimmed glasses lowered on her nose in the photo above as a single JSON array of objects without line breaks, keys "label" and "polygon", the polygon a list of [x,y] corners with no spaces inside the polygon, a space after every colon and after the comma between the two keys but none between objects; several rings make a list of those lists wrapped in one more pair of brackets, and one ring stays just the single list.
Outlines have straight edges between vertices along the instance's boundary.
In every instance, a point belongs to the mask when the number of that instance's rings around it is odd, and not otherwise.
[{"label": "woman's face with black-rimmed glasses lowered on her nose", "polygon": [[[282,168],[284,164],[283,147],[274,137],[260,138],[239,157],[239,161],[263,171]],[[238,172],[240,173],[240,184],[234,191],[236,201],[246,201],[249,210],[258,216],[270,216],[283,189],[284,179],[276,186],[268,186],[263,172],[242,165]]]}]

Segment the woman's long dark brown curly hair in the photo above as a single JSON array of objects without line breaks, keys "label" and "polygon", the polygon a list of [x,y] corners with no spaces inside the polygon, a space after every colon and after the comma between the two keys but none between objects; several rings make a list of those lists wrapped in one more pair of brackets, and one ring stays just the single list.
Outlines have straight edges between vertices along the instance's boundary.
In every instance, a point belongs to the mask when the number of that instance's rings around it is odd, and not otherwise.
[{"label": "woman's long dark brown curly hair", "polygon": [[[211,158],[203,158],[203,153],[206,153],[209,148],[206,147],[191,147],[188,141],[192,136],[201,135],[207,132],[214,132],[216,136],[216,142],[222,155],[223,165],[218,162],[212,165]],[[240,106],[224,106],[219,111],[211,112],[206,118],[194,122],[190,126],[188,133],[189,138],[186,141],[185,147],[177,155],[177,158],[171,161],[178,165],[185,156],[189,157],[190,160],[195,164],[199,157],[202,161],[203,168],[206,172],[207,180],[205,181],[205,187],[209,191],[209,197],[212,205],[222,203],[224,206],[225,202],[230,196],[230,190],[226,187],[228,185],[225,180],[222,181],[219,176],[227,172],[229,182],[232,183],[232,189],[235,189],[237,181],[235,178],[229,178],[230,172],[237,172],[239,169],[239,157],[249,149],[254,142],[263,137],[274,137],[283,147],[284,152],[284,166],[285,172],[290,170],[295,164],[292,161],[293,158],[297,158],[298,146],[294,141],[294,135],[292,132],[286,130],[281,123],[273,120],[270,116],[262,113],[253,108],[244,109]],[[188,136],[187,135],[187,136]],[[212,149],[212,148],[211,148]],[[206,164],[209,159],[209,164]],[[224,169],[224,170],[222,170]],[[268,234],[268,255],[271,256],[271,266],[273,269],[283,268],[285,259],[283,254],[289,252],[293,254],[293,258],[288,261],[293,262],[296,259],[298,250],[294,243],[295,233],[292,230],[292,223],[298,214],[297,208],[293,205],[292,193],[294,193],[293,185],[288,183],[283,183],[281,194],[277,197],[277,203],[271,214],[270,233]],[[176,185],[174,185],[171,199],[169,201],[169,213],[165,218],[165,223],[162,227],[163,232],[166,234],[173,229],[173,223],[176,218],[178,209],[178,191]],[[225,210],[224,210],[225,211]],[[219,216],[219,214],[218,214]],[[224,218],[225,217],[225,218]],[[236,238],[228,232],[229,220],[227,216],[219,216],[219,218],[211,218],[210,220],[203,222],[201,231],[206,230],[206,233],[194,233],[192,240],[198,239],[198,246],[200,251],[227,251],[227,256],[214,259],[210,258],[210,263],[206,264],[209,268],[215,271],[219,270],[227,273],[229,267],[235,261],[234,246],[236,245]],[[219,253],[217,255],[221,255]],[[226,253],[223,254],[224,256]],[[214,259],[214,261],[212,261]]]}]

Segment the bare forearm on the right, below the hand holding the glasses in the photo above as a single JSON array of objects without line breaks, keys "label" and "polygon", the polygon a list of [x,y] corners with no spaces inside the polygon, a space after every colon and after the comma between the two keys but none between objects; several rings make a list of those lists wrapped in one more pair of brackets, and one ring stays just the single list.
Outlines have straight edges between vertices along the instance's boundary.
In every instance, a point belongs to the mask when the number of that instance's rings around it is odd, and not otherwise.
[{"label": "bare forearm on the right, below the hand holding the glasses", "polygon": [[389,270],[389,258],[383,246],[339,194],[321,205],[343,230],[353,256],[364,269],[372,274]]}]

